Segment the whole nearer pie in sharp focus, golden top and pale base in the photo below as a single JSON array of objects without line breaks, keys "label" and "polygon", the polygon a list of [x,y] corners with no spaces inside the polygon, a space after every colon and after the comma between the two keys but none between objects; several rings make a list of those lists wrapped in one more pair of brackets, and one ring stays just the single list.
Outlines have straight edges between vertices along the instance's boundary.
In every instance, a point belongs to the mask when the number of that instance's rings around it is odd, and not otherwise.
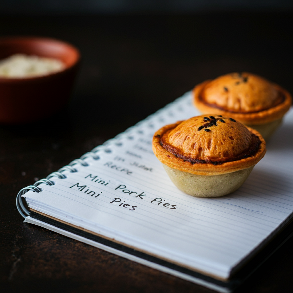
[{"label": "whole nearer pie in sharp focus, golden top and pale base", "polygon": [[159,129],[153,151],[180,190],[216,197],[238,189],[266,148],[258,131],[233,118],[202,115]]}]

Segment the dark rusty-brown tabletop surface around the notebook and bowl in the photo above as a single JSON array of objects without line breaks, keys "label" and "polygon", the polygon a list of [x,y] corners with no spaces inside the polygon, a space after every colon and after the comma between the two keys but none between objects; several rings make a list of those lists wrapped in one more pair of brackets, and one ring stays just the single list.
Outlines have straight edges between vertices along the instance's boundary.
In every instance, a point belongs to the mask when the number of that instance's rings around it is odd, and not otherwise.
[{"label": "dark rusty-brown tabletop surface around the notebook and bowl", "polygon": [[[2,16],[1,36],[66,40],[79,47],[83,65],[66,109],[28,125],[0,126],[1,291],[212,292],[25,224],[16,194],[205,79],[251,71],[292,93],[292,16]],[[292,244],[237,292],[292,292]]]}]

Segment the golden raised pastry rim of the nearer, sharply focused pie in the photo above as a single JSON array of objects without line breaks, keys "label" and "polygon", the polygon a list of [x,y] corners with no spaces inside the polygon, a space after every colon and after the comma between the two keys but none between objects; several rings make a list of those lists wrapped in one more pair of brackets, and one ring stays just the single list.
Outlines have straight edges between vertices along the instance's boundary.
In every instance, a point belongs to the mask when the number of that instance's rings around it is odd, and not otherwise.
[{"label": "golden raised pastry rim of the nearer, sharply focused pie", "polygon": [[265,155],[266,152],[266,143],[261,134],[250,128],[246,128],[256,136],[258,136],[260,140],[260,146],[258,151],[255,153],[255,155],[250,156],[245,159],[237,160],[237,161],[231,161],[231,162],[225,162],[219,165],[213,165],[212,163],[195,163],[192,164],[188,161],[184,161],[181,158],[178,158],[177,156],[171,154],[166,149],[164,149],[161,146],[161,137],[162,135],[169,129],[175,128],[177,125],[179,125],[182,121],[178,121],[174,124],[165,125],[162,128],[160,128],[158,131],[155,132],[152,142],[152,148],[154,151],[154,154],[156,157],[161,161],[161,163],[169,166],[170,168],[174,168],[180,171],[197,174],[197,175],[220,175],[220,174],[226,174],[231,173],[239,170],[243,170],[246,168],[250,168],[257,164]]}]

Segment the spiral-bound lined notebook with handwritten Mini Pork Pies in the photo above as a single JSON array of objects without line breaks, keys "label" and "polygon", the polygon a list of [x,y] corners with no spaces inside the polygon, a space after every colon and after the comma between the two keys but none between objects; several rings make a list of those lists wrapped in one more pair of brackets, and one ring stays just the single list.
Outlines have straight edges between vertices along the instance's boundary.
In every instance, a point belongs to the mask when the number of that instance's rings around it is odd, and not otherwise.
[{"label": "spiral-bound lined notebook with handwritten Mini Pork Pies", "polygon": [[293,152],[282,134],[293,112],[243,186],[217,198],[178,190],[151,148],[157,129],[195,115],[189,92],[23,188],[19,212],[27,223],[231,292],[292,235]]}]

